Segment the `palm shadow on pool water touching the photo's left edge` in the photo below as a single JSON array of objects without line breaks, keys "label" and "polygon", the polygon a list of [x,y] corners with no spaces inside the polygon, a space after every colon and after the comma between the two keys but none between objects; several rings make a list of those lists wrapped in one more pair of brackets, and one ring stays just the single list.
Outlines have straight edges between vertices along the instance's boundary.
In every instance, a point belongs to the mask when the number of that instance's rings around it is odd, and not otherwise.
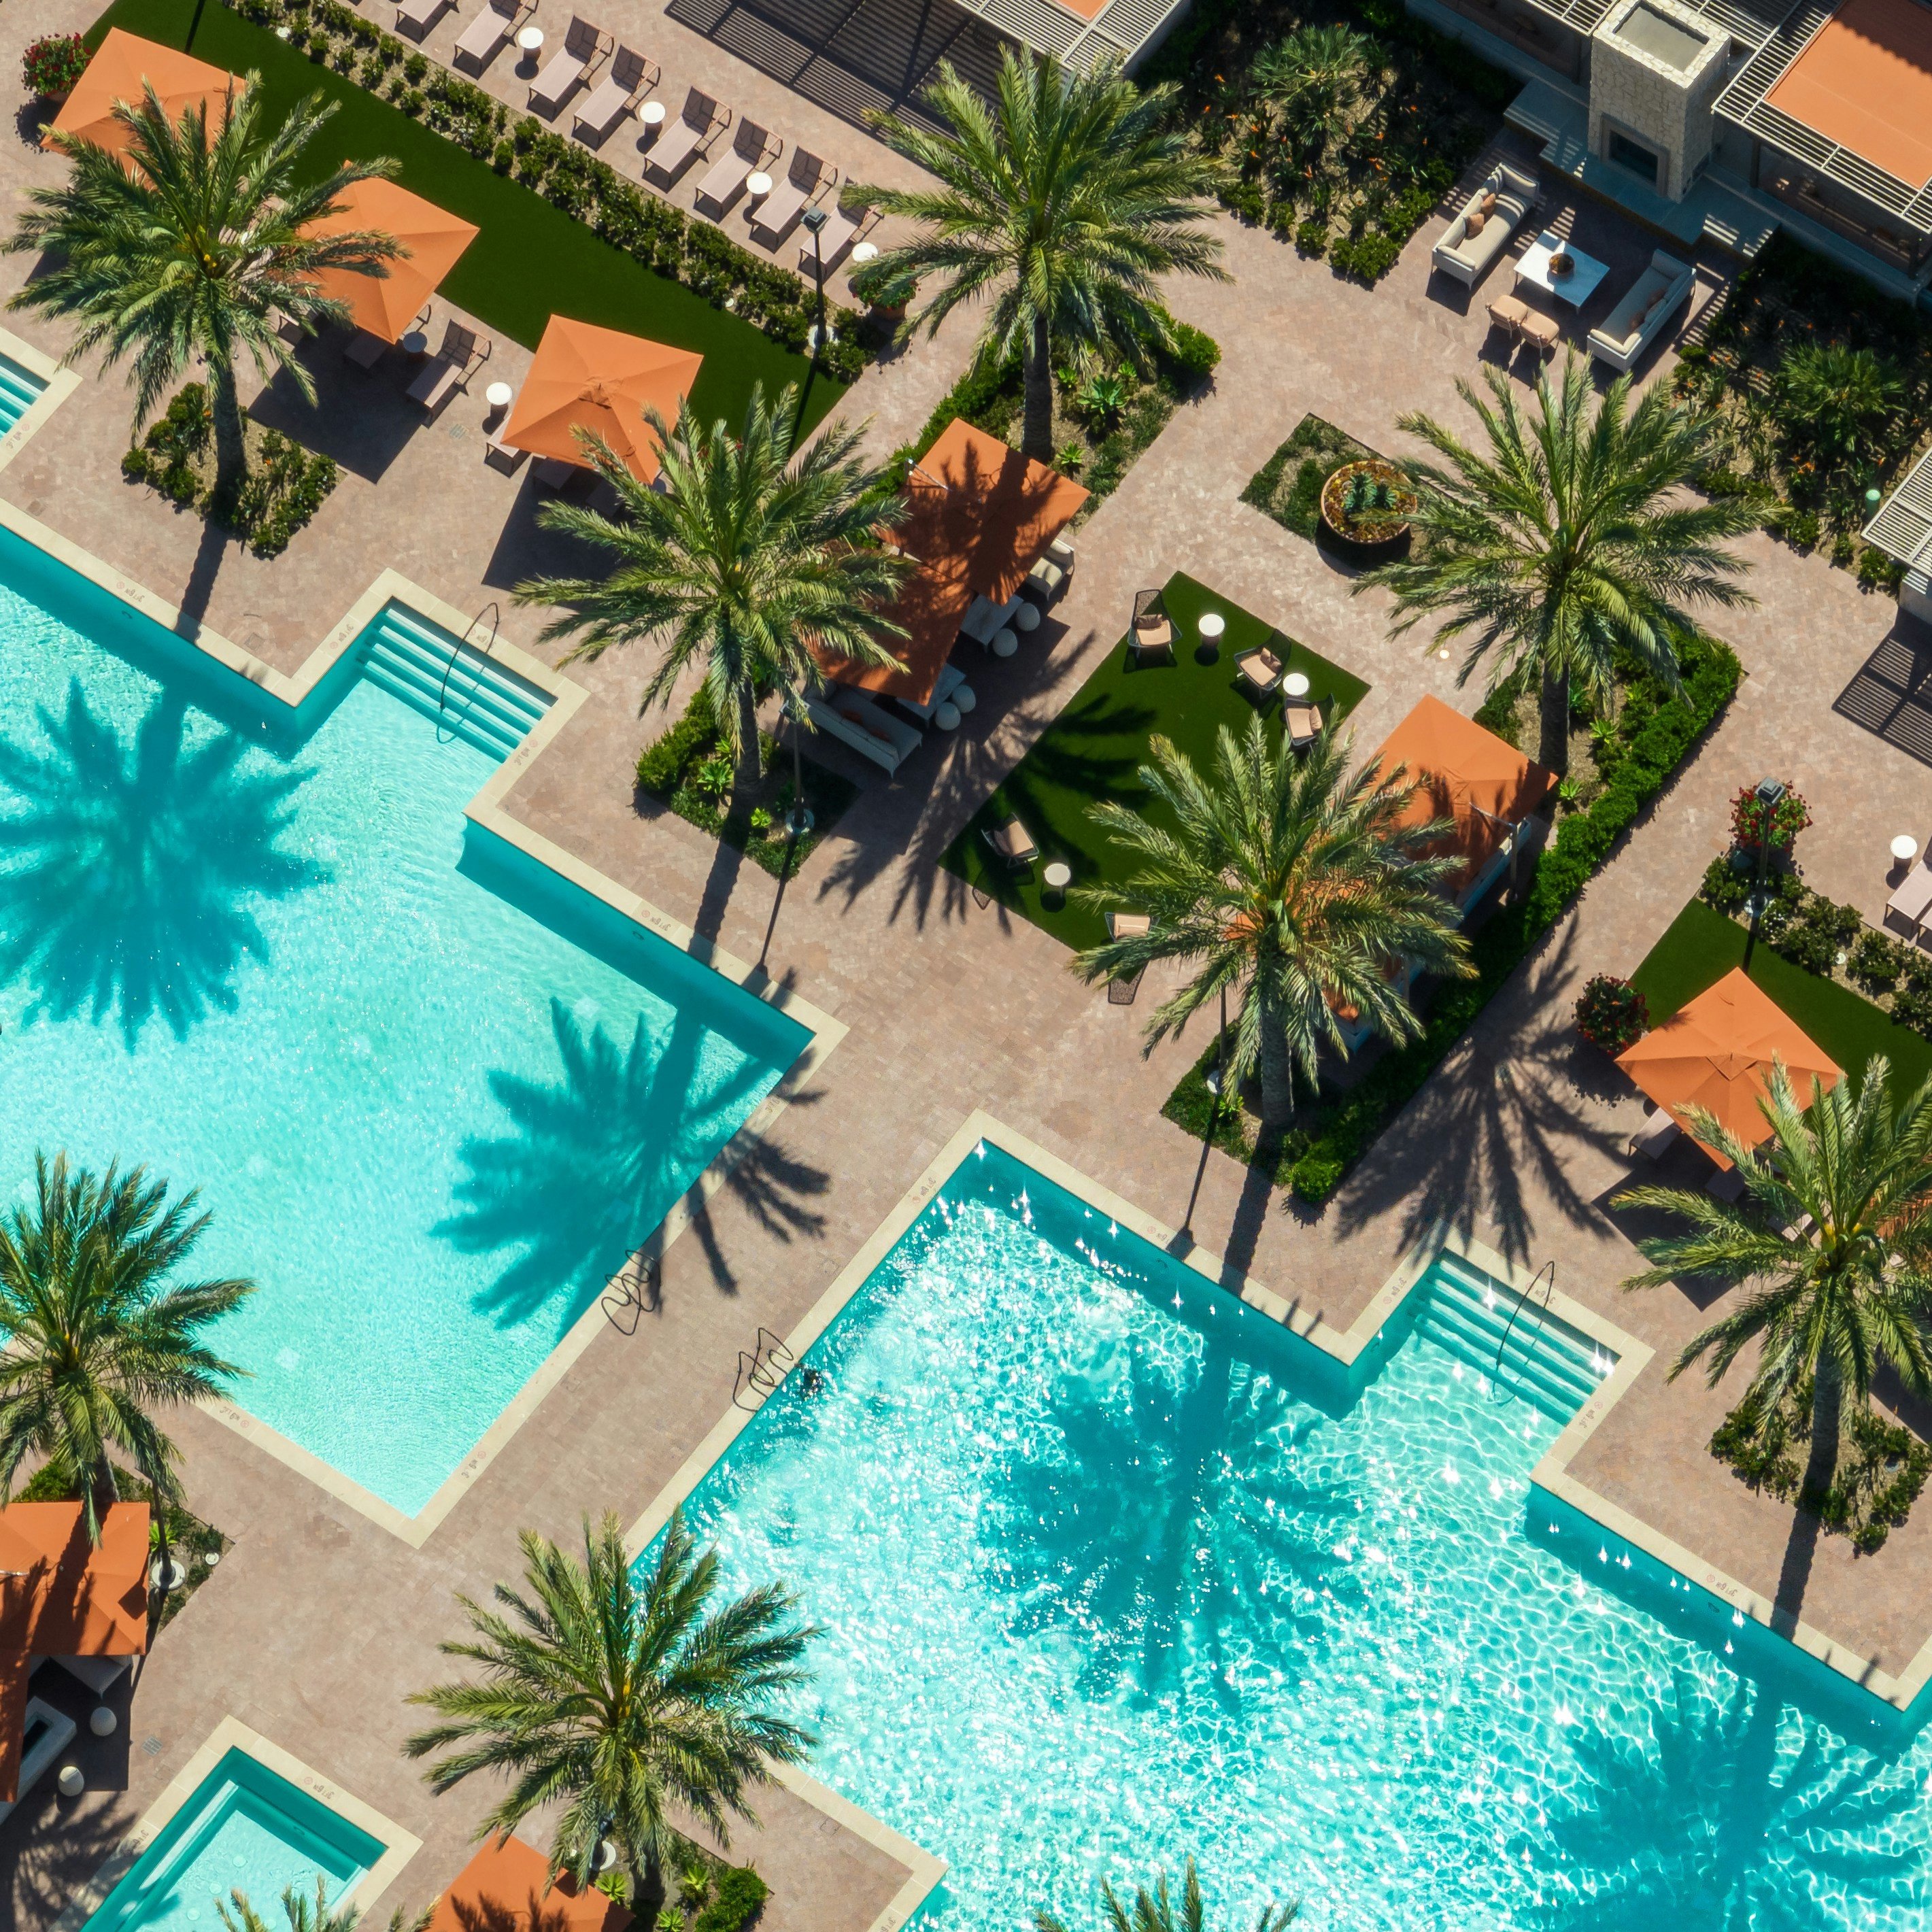
[{"label": "palm shadow on pool water touching the photo's left edge", "polygon": [[33,989],[29,1020],[118,1020],[129,1051],[149,1020],[234,1012],[261,902],[328,877],[280,842],[311,769],[191,734],[166,690],[128,738],[77,678],[35,726],[0,740],[0,985]]}]

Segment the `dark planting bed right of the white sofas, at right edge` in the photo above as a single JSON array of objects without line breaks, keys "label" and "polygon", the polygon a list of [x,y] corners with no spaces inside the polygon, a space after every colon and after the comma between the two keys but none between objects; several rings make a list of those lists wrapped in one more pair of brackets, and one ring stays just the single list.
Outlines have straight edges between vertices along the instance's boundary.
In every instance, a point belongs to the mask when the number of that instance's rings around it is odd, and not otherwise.
[{"label": "dark planting bed right of the white sofas, at right edge", "polygon": [[[1847,383],[1845,410],[1818,413],[1812,373]],[[1758,493],[1774,535],[1897,587],[1899,566],[1859,531],[1864,493],[1888,491],[1932,433],[1932,323],[1874,288],[1853,292],[1833,263],[1777,236],[1679,348],[1673,383],[1729,427],[1725,462],[1704,479],[1712,495]]]}]

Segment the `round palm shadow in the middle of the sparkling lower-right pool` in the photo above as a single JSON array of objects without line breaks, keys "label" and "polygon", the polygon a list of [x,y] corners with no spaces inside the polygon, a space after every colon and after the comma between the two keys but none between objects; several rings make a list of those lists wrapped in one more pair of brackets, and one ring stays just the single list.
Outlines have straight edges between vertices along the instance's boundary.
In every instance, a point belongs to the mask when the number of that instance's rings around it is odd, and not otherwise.
[{"label": "round palm shadow in the middle of the sparkling lower-right pool", "polygon": [[1124,1352],[1055,1408],[1063,1453],[1016,1463],[995,1511],[1012,1633],[1078,1633],[1090,1694],[1188,1677],[1233,1708],[1240,1669],[1298,1677],[1358,1594],[1356,1490],[1298,1474],[1325,1418],[1213,1331],[1186,1387]]}]

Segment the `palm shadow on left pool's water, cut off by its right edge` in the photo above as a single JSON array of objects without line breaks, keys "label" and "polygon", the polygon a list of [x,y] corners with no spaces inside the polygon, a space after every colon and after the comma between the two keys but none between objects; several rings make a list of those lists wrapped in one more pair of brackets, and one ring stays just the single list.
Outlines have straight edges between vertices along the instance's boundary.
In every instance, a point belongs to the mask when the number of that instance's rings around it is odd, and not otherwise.
[{"label": "palm shadow on left pool's water, cut off by its right edge", "polygon": [[[456,1211],[433,1229],[460,1254],[512,1250],[479,1296],[506,1327],[547,1306],[587,1304],[728,1140],[728,1124],[752,1111],[771,1072],[746,1057],[719,1078],[717,1055],[705,1053],[709,1030],[684,1009],[668,1039],[639,1018],[624,1041],[553,999],[551,1034],[553,1078],[489,1076],[510,1132],[464,1142]],[[798,1163],[757,1173],[767,1190],[823,1184]],[[775,1200],[765,1208],[779,1211]]]}]

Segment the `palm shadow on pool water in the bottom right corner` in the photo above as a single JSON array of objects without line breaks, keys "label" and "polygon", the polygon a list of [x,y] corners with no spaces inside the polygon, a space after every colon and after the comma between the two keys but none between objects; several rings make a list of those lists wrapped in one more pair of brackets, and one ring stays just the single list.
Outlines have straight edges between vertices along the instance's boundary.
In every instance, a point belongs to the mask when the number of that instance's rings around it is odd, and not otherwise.
[{"label": "palm shadow on pool water in the bottom right corner", "polygon": [[1577,1801],[1517,1847],[1555,1853],[1549,1932],[1818,1932],[1928,1903],[1920,1781],[1764,1685],[1679,1675],[1648,1741],[1575,1748]]}]

